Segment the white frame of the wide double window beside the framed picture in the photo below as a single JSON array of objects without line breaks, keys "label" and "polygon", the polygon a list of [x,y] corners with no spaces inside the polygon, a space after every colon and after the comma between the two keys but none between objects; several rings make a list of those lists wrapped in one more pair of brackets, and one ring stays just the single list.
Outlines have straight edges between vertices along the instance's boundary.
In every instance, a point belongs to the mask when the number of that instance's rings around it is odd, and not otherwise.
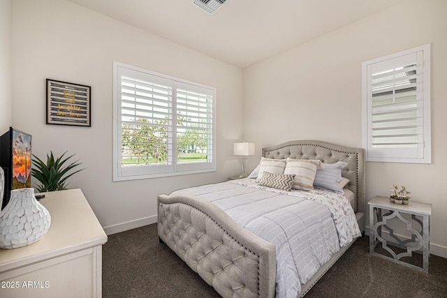
[{"label": "white frame of the wide double window beside the framed picture", "polygon": [[[172,146],[169,149],[172,153],[172,161],[169,165],[140,165],[135,167],[122,167],[122,73],[135,73],[134,79],[141,79],[145,75],[149,77],[156,77],[156,82],[164,82],[170,84],[173,88],[171,103],[171,124],[169,125],[168,133],[172,140]],[[130,75],[129,75],[130,76]],[[177,163],[177,89],[186,89],[191,92],[204,92],[206,95],[212,97],[212,128],[211,138],[208,142],[211,144],[211,158],[204,163],[190,163],[183,164]],[[125,181],[134,179],[149,179],[156,177],[170,177],[184,174],[197,174],[203,172],[215,172],[216,171],[216,158],[217,158],[217,135],[216,135],[216,88],[206,86],[204,84],[198,84],[196,82],[190,82],[187,80],[172,77],[170,75],[164,75],[161,73],[155,73],[151,70],[145,70],[135,66],[122,64],[120,62],[113,62],[113,181]],[[124,169],[124,171],[123,171]]]}]

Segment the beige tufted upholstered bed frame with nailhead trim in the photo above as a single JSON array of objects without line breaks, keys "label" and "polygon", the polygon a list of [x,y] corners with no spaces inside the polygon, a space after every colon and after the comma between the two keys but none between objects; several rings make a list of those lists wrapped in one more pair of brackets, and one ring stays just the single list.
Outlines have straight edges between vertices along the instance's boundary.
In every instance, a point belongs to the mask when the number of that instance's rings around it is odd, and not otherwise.
[{"label": "beige tufted upholstered bed frame with nailhead trim", "polygon": [[[356,195],[356,218],[365,230],[364,149],[299,140],[263,148],[267,158],[345,161],[342,176]],[[245,230],[211,202],[189,195],[159,195],[159,238],[223,297],[274,297],[276,255],[273,244]],[[353,240],[355,241],[355,239]],[[351,242],[351,244],[353,243]],[[351,246],[344,246],[305,285],[304,296]]]}]

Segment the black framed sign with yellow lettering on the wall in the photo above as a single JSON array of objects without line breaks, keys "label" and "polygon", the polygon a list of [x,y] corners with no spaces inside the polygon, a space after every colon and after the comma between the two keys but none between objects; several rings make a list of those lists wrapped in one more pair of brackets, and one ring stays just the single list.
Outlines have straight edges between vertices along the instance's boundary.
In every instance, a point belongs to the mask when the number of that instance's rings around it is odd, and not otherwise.
[{"label": "black framed sign with yellow lettering on the wall", "polygon": [[47,124],[91,126],[91,87],[47,79]]}]

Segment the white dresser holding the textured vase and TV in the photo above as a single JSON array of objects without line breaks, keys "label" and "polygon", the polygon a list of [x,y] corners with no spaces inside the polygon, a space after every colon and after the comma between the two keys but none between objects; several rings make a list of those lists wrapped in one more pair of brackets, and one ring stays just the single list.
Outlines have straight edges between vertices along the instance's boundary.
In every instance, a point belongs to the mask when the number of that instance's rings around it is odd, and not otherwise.
[{"label": "white dresser holding the textured vase and TV", "polygon": [[80,189],[45,193],[45,236],[0,249],[0,297],[101,297],[102,245],[107,236]]}]

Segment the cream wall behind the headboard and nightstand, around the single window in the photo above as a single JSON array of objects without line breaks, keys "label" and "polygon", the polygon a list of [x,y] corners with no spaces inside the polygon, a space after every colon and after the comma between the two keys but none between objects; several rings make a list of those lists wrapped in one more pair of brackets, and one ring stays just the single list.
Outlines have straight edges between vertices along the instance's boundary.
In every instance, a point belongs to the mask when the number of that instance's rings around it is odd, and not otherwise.
[{"label": "cream wall behind the headboard and nightstand, around the single window", "polygon": [[245,140],[258,148],[306,139],[362,147],[362,62],[431,43],[432,164],[367,163],[367,200],[404,184],[413,200],[432,203],[431,251],[445,258],[446,15],[445,0],[404,1],[244,69]]}]

